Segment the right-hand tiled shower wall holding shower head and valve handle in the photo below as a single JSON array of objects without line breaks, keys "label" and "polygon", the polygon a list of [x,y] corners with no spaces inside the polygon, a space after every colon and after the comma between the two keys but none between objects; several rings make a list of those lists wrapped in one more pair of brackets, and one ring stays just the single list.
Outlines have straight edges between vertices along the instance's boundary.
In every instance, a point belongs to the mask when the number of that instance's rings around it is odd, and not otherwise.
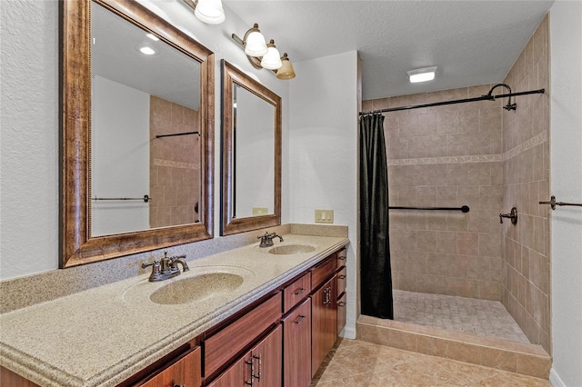
[{"label": "right-hand tiled shower wall holding shower head and valve handle", "polygon": [[503,121],[503,208],[517,207],[517,225],[502,227],[503,303],[530,342],[551,353],[549,205],[549,21],[537,27],[507,78],[517,98]]}]

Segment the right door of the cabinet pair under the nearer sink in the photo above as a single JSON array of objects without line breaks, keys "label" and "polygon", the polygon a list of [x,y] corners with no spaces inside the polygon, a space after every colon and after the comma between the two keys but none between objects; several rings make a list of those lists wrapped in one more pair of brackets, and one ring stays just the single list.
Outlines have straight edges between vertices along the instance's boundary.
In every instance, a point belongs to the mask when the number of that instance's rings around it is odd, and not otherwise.
[{"label": "right door of the cabinet pair under the nearer sink", "polygon": [[277,325],[273,332],[256,344],[251,350],[253,386],[273,387],[282,385],[283,380],[283,327]]}]

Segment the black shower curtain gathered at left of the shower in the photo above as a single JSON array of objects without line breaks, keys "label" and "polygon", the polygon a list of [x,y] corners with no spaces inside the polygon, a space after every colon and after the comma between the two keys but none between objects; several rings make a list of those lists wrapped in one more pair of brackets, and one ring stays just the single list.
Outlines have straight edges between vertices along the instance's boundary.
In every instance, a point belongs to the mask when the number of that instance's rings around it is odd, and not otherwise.
[{"label": "black shower curtain gathered at left of the shower", "polygon": [[360,118],[360,291],[362,314],[394,319],[388,240],[384,115]]}]

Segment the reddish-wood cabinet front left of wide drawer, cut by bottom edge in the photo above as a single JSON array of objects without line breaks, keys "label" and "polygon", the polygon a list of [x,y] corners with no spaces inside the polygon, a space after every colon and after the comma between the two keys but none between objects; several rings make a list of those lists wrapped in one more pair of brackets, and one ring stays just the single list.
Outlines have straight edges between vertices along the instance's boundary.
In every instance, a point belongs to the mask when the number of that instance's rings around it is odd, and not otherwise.
[{"label": "reddish-wood cabinet front left of wide drawer, cut by bottom edge", "polygon": [[187,352],[162,372],[141,384],[142,387],[199,387],[202,384],[200,347]]}]

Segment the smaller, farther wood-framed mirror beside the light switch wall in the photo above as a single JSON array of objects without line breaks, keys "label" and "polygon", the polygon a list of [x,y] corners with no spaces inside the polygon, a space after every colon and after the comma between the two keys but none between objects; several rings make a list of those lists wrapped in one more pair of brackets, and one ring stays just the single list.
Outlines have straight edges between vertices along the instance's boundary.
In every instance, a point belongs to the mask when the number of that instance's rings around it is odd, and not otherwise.
[{"label": "smaller, farther wood-framed mirror beside the light switch wall", "polygon": [[222,61],[221,234],[281,224],[281,98]]}]

